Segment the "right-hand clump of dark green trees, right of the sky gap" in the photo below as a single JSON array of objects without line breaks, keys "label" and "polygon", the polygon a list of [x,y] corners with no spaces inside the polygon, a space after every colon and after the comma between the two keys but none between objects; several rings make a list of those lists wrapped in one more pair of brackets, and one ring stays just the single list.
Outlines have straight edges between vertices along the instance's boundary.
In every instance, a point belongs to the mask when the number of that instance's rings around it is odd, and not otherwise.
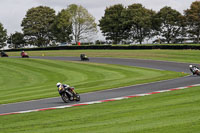
[{"label": "right-hand clump of dark green trees, right of the sky gap", "polygon": [[145,39],[168,44],[187,40],[199,43],[200,2],[193,2],[183,15],[168,6],[155,12],[142,4],[128,7],[118,4],[106,8],[99,22],[106,39],[114,44],[127,41],[142,44]]}]

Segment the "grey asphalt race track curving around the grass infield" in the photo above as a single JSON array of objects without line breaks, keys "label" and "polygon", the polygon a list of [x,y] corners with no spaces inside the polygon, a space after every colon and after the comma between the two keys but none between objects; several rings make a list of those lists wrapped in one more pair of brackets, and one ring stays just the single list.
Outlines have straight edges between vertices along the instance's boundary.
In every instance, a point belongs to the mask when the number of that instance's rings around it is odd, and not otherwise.
[{"label": "grey asphalt race track curving around the grass infield", "polygon": [[[42,58],[42,59],[52,59],[52,60],[70,60],[70,61],[80,61],[78,57],[31,57],[31,58]],[[117,58],[90,58],[90,62],[96,63],[106,63],[106,64],[120,64],[128,66],[138,66],[145,68],[153,68],[159,70],[170,70],[176,72],[190,73],[188,63],[176,63],[176,62],[166,62],[166,61],[154,61],[154,60],[139,60],[139,59],[117,59]],[[173,80],[159,81],[154,83],[147,83],[142,85],[134,85],[128,87],[114,88],[105,91],[97,91],[92,93],[81,94],[81,101],[90,102],[105,100],[116,97],[123,97],[135,94],[144,94],[161,90],[168,90],[171,88],[190,86],[193,84],[199,84],[199,76],[186,76]],[[57,89],[55,88],[55,91]],[[59,95],[59,94],[58,94]],[[34,110],[41,108],[50,108],[56,106],[70,105],[77,102],[64,103],[60,97],[47,98],[41,100],[33,100],[27,102],[13,103],[13,104],[3,104],[0,105],[0,114]]]}]

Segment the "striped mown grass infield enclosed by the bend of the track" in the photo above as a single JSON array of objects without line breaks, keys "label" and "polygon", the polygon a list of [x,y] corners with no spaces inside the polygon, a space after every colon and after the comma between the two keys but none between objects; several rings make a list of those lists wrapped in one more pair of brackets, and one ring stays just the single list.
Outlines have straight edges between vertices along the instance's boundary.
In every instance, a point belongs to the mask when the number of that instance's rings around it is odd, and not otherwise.
[{"label": "striped mown grass infield enclosed by the bend of the track", "polygon": [[0,58],[0,104],[59,96],[57,82],[85,93],[186,74],[84,62]]}]

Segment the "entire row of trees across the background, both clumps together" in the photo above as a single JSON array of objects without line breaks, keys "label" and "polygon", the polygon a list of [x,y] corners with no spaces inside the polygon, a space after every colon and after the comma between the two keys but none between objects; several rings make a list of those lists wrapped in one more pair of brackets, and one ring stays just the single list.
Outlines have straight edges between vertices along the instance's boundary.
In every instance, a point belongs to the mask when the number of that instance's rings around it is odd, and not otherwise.
[{"label": "entire row of trees across the background, both clumps together", "polygon": [[[142,4],[128,7],[117,4],[105,9],[98,26],[112,44],[142,44],[144,40],[152,40],[153,43],[192,41],[199,44],[200,2],[193,2],[183,14],[168,6],[156,12]],[[58,14],[46,6],[31,8],[21,27],[22,33],[7,36],[0,23],[0,48],[7,44],[10,48],[21,48],[26,45],[47,47],[55,46],[57,42],[90,41],[98,32],[94,17],[76,4],[69,5]]]}]

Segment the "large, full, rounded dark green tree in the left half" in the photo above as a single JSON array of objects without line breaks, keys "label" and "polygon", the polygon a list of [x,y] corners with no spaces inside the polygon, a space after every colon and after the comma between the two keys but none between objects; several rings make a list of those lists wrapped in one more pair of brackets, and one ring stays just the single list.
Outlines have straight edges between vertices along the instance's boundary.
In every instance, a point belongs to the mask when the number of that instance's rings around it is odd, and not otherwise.
[{"label": "large, full, rounded dark green tree in the left half", "polygon": [[47,46],[53,39],[51,25],[54,19],[55,11],[49,7],[29,9],[21,24],[27,43],[38,47]]}]

